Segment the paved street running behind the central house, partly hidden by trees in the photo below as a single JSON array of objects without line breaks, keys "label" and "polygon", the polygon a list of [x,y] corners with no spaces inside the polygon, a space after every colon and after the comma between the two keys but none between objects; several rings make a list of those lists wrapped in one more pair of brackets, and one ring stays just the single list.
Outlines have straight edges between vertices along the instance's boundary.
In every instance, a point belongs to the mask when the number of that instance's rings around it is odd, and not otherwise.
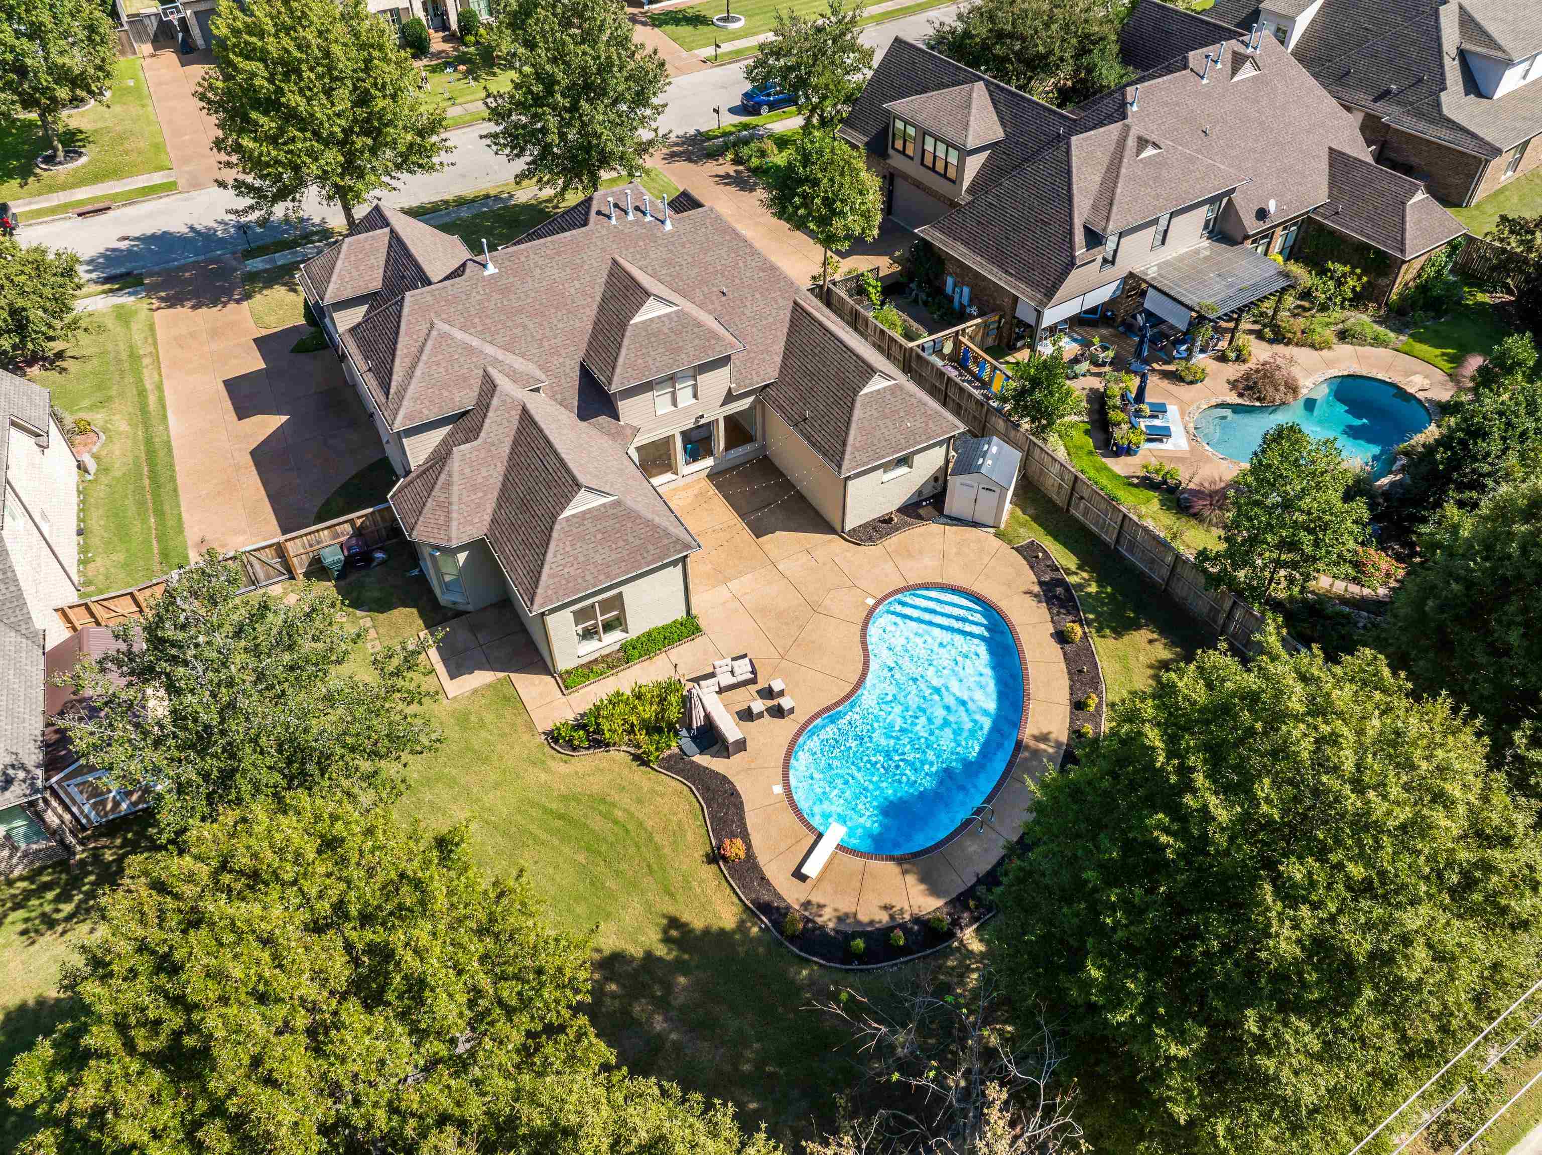
[{"label": "paved street running behind the central house, partly hidden by trees", "polygon": [[[901,20],[871,25],[864,40],[882,56],[896,35],[919,39],[933,20],[950,17],[956,8],[936,8]],[[739,94],[745,89],[745,65],[723,65],[677,77],[669,85],[668,108],[660,126],[668,133],[688,133],[717,123],[712,106],[723,108],[723,119],[737,119]],[[734,109],[734,111],[729,111]],[[489,151],[481,139],[483,128],[472,125],[450,134],[453,148],[449,168],[421,177],[409,177],[402,187],[382,197],[392,205],[413,205],[456,193],[486,188],[518,176],[518,167]],[[86,221],[57,221],[25,231],[34,244],[74,248],[82,256],[86,279],[163,268],[199,258],[230,253],[242,247],[241,227],[228,216],[237,197],[221,188],[130,204]],[[278,239],[318,224],[341,224],[336,208],[324,208],[315,199],[305,204],[299,222],[274,222],[267,230],[251,230],[251,244]]]}]

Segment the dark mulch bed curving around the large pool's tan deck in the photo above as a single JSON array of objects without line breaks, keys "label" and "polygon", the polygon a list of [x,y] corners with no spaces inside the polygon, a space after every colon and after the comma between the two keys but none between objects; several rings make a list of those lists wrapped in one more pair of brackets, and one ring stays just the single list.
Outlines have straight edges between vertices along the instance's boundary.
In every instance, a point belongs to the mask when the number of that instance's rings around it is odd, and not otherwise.
[{"label": "dark mulch bed curving around the large pool's tan deck", "polygon": [[[911,524],[919,524],[919,520],[911,521]],[[1070,646],[1062,643],[1061,654],[1066,658],[1066,672],[1070,677],[1072,699],[1079,702],[1087,694],[1096,694],[1098,705],[1092,711],[1072,708],[1072,737],[1075,740],[1075,731],[1081,725],[1090,725],[1093,734],[1101,734],[1104,708],[1103,674],[1098,666],[1098,654],[1092,646],[1090,635],[1087,634],[1087,621],[1082,618],[1081,608],[1076,603],[1076,594],[1072,591],[1070,581],[1066,580],[1066,574],[1061,571],[1059,564],[1038,541],[1030,540],[1022,543],[1018,546],[1018,554],[1029,563],[1033,569],[1033,575],[1039,581],[1039,588],[1042,589],[1044,600],[1050,608],[1050,620],[1055,625],[1056,632],[1061,631],[1061,628],[1069,621],[1081,623],[1081,641]],[[563,753],[595,753],[567,751],[557,743],[552,743],[552,746],[554,749],[561,749]],[[1075,759],[1076,754],[1073,746],[1067,745],[1066,757],[1061,760],[1061,765],[1070,765]],[[748,853],[739,862],[728,862],[726,859],[717,856],[717,865],[739,891],[739,896],[745,901],[745,904],[760,916],[779,941],[791,950],[825,965],[862,968],[884,967],[914,958],[917,953],[947,945],[959,934],[990,918],[995,910],[990,896],[992,891],[1001,884],[1001,871],[1007,862],[1024,850],[1024,840],[1019,837],[1018,844],[1002,854],[1002,857],[998,859],[996,864],[988,871],[981,874],[970,887],[954,894],[936,910],[927,911],[922,916],[874,930],[836,930],[834,927],[827,927],[825,924],[808,918],[803,911],[797,911],[799,918],[803,919],[803,928],[799,934],[786,938],[782,934],[782,922],[788,911],[794,910],[794,907],[782,897],[782,891],[771,884],[771,879],[766,877],[766,873],[756,860],[754,842],[749,839],[749,823],[745,819],[745,800],[739,793],[739,786],[736,786],[729,777],[717,773],[711,766],[705,766],[694,759],[688,759],[678,748],[671,749],[658,759],[657,768],[671,777],[685,782],[695,793],[695,797],[702,803],[702,810],[706,814],[706,827],[708,834],[712,839],[714,854],[715,848],[720,847],[725,839],[740,839],[745,844]],[[938,914],[941,914],[947,922],[947,927],[942,930],[933,930],[930,925],[931,919]],[[901,947],[890,942],[890,934],[896,928],[905,936],[905,942]],[[862,939],[867,945],[860,962],[857,962],[851,955],[853,939]]]}]

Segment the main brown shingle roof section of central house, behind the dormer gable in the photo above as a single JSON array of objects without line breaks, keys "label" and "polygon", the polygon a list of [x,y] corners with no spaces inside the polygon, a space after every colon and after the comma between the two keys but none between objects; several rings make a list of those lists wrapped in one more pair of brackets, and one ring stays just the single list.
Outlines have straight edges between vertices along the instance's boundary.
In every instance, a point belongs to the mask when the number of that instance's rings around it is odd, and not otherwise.
[{"label": "main brown shingle roof section of central house, behind the dormer gable", "polygon": [[[634,197],[640,207],[640,187],[634,187]],[[538,365],[546,381],[543,393],[569,412],[581,413],[589,406],[614,416],[603,389],[598,398],[584,392],[583,361],[615,258],[683,298],[682,305],[689,305],[699,321],[705,318],[708,328],[720,327],[743,345],[732,353],[736,389],[776,376],[788,305],[802,291],[791,278],[709,208],[674,217],[666,233],[657,202],[652,219],[637,213],[637,219],[612,225],[598,200],[583,227],[498,250],[497,273],[484,276],[480,261],[473,261],[466,276],[372,307],[342,335],[392,429],[476,404],[481,361],[466,352],[464,341],[430,345],[435,321]],[[705,332],[699,327],[699,335]],[[722,335],[712,341],[720,342]],[[441,356],[449,364],[429,372],[424,361]]]}]

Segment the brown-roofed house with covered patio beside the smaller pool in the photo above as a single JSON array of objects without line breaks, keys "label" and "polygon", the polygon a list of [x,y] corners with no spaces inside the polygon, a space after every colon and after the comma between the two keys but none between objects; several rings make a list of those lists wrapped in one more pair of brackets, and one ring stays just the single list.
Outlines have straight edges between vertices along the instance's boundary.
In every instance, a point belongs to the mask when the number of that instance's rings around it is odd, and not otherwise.
[{"label": "brown-roofed house with covered patio beside the smaller pool", "polygon": [[1261,28],[1143,0],[1121,52],[1138,76],[1062,111],[896,40],[840,126],[950,290],[1018,341],[1141,307],[1180,328],[1201,302],[1240,316],[1284,284],[1268,258],[1321,227],[1386,254],[1385,301],[1463,233]]}]

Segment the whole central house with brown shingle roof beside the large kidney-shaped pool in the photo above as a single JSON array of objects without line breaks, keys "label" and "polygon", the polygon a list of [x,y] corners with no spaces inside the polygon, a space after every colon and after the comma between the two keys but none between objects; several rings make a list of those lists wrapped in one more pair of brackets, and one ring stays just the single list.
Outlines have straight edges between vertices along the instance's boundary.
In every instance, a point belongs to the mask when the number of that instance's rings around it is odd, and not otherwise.
[{"label": "whole central house with brown shingle roof beside the large kidney-shaped pool", "polygon": [[688,193],[591,196],[490,256],[376,205],[301,287],[435,595],[507,597],[554,671],[689,612],[660,489],[769,455],[845,530],[938,492],[961,430]]}]

